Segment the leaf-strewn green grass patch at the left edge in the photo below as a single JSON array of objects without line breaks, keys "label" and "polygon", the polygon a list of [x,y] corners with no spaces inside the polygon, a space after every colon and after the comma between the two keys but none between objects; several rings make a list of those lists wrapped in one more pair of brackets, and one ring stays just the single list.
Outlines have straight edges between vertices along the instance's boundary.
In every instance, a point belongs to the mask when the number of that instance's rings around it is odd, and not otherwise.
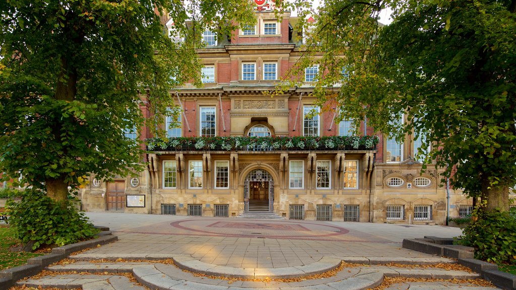
[{"label": "leaf-strewn green grass patch at the left edge", "polygon": [[12,268],[27,263],[27,259],[41,254],[28,252],[9,252],[9,248],[19,244],[14,238],[14,231],[8,227],[0,227],[0,270]]}]

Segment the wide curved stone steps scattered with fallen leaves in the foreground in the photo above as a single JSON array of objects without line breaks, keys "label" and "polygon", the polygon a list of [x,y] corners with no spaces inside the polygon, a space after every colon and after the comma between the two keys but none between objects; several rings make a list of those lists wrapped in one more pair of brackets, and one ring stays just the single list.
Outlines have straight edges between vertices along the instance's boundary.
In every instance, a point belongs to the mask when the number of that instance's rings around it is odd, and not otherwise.
[{"label": "wide curved stone steps scattered with fallen leaves in the foreground", "polygon": [[[133,276],[141,284],[151,289],[175,289],[175,290],[262,290],[262,289],[281,289],[281,290],[364,290],[378,286],[384,277],[407,277],[407,278],[438,278],[438,279],[476,279],[476,273],[445,270],[440,268],[399,268],[395,266],[364,265],[363,267],[349,267],[338,271],[336,275],[322,279],[307,279],[302,281],[280,282],[280,281],[241,281],[238,279],[210,279],[197,277],[191,272],[201,273],[208,276],[224,276],[246,279],[263,278],[293,278],[306,277],[340,266],[341,259],[337,257],[323,257],[321,260],[303,266],[292,266],[286,268],[235,268],[208,264],[188,255],[174,255],[172,259],[174,265],[136,262],[102,262],[90,263],[87,261],[77,261],[67,265],[56,265],[47,267],[48,270],[56,272],[101,272],[102,275],[80,275],[67,274],[56,276],[44,276],[39,279],[29,278],[18,282],[18,285],[26,286],[51,286],[60,288],[82,287],[85,290],[119,290],[134,289],[142,290],[143,287],[130,282],[126,277],[112,275],[116,272],[132,272]],[[380,259],[381,260],[381,259]],[[185,272],[183,269],[191,271]],[[404,289],[412,288],[412,282],[401,285]],[[437,282],[435,282],[437,283]],[[416,283],[417,284],[417,283]],[[423,286],[426,284],[414,285]],[[394,285],[393,285],[394,286]],[[428,285],[426,285],[428,286]],[[460,289],[462,285],[448,283],[436,284],[436,289]],[[470,285],[468,285],[470,286]],[[474,285],[471,285],[474,286]],[[469,288],[469,287],[468,287]],[[491,287],[472,287],[475,290],[493,289]],[[389,288],[391,289],[391,288]]]}]

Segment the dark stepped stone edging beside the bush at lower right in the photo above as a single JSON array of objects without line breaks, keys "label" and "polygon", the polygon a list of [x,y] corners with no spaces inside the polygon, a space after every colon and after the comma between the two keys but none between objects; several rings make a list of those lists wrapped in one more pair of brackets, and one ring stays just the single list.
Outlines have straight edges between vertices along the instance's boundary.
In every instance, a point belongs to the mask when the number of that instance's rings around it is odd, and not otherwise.
[{"label": "dark stepped stone edging beside the bush at lower right", "polygon": [[479,275],[497,287],[516,290],[516,275],[498,270],[498,266],[474,259],[471,247],[453,245],[453,238],[425,236],[424,238],[404,239],[403,247],[427,254],[440,255],[457,259],[458,263],[479,273]]}]

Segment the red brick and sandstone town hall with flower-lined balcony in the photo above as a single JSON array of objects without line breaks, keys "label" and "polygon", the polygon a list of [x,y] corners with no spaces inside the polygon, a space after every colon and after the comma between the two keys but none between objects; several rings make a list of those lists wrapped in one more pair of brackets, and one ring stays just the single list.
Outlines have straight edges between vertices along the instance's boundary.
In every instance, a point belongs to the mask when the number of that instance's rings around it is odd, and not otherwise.
[{"label": "red brick and sandstone town hall with flower-lined balcony", "polygon": [[[439,169],[422,172],[413,159],[421,140],[398,142],[364,121],[361,136],[352,136],[351,120],[335,122],[335,106],[315,106],[318,66],[305,70],[302,86],[264,94],[302,48],[288,12],[281,21],[267,9],[256,17],[254,27],[229,37],[204,32],[204,87],[170,92],[182,109],[163,124],[170,139],[150,139],[147,169],[136,176],[91,176],[83,210],[405,224],[445,224],[472,211],[472,200],[441,182]],[[146,104],[142,96],[149,116]],[[142,141],[153,137],[147,132]]]}]

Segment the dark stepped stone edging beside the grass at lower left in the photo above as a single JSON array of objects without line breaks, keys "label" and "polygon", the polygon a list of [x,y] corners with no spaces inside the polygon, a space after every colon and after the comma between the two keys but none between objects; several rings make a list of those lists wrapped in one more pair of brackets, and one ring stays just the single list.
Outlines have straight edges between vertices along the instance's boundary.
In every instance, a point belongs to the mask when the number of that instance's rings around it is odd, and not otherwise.
[{"label": "dark stepped stone edging beside the grass at lower left", "polygon": [[112,241],[118,240],[106,227],[96,227],[101,230],[99,237],[95,239],[80,241],[79,243],[70,244],[52,249],[52,252],[42,256],[33,257],[27,260],[26,265],[13,267],[0,271],[0,290],[7,290],[13,286],[16,281],[25,277],[36,275],[46,266],[65,259],[73,252],[93,248],[97,245],[105,245]]}]

